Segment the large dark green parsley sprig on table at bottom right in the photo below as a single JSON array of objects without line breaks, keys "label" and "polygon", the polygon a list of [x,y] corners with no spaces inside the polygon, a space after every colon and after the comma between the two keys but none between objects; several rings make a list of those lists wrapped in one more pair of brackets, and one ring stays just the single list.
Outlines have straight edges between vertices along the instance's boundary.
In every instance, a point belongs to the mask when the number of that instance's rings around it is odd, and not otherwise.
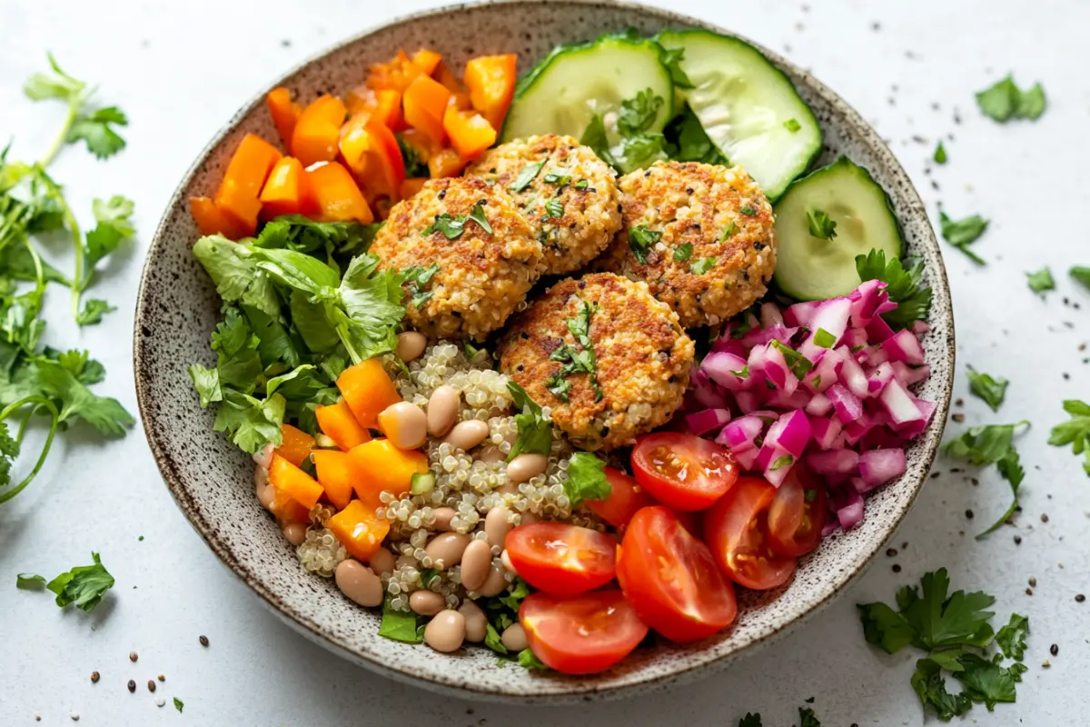
[{"label": "large dark green parsley sprig on table at bottom right", "polygon": [[[889,654],[909,644],[927,652],[916,663],[911,686],[924,708],[930,706],[944,722],[966,714],[973,703],[991,711],[998,702],[1015,701],[1015,683],[1026,666],[1016,661],[1004,667],[1003,657],[1021,658],[1029,633],[1028,619],[1015,614],[995,634],[990,623],[995,614],[988,610],[994,597],[979,591],[947,596],[948,590],[949,577],[941,568],[924,574],[920,589],[900,589],[896,609],[883,603],[858,606],[868,643]],[[993,641],[1002,655],[988,655]],[[946,690],[944,671],[961,682],[960,693]]]}]

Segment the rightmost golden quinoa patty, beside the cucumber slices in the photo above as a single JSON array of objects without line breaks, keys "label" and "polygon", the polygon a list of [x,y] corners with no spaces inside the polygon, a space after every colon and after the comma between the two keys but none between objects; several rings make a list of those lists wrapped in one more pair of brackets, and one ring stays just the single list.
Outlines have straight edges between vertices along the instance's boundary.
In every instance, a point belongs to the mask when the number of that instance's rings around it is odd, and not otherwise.
[{"label": "rightmost golden quinoa patty, beside the cucumber slices", "polygon": [[656,162],[618,186],[625,219],[598,267],[645,280],[686,328],[725,320],[764,294],[776,268],[772,205],[744,169]]}]

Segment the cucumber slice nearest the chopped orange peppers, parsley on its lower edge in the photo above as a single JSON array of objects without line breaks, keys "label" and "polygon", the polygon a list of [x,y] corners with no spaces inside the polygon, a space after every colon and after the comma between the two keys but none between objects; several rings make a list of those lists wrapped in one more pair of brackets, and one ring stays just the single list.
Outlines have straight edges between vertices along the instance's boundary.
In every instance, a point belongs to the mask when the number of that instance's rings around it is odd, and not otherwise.
[{"label": "cucumber slice nearest the chopped orange peppers, parsley on its lower edge", "polygon": [[654,40],[630,35],[554,48],[516,86],[500,141],[547,133],[580,138],[597,114],[614,146],[621,101],[649,89],[663,102],[646,131],[661,133],[674,116],[674,82],[662,52]]}]

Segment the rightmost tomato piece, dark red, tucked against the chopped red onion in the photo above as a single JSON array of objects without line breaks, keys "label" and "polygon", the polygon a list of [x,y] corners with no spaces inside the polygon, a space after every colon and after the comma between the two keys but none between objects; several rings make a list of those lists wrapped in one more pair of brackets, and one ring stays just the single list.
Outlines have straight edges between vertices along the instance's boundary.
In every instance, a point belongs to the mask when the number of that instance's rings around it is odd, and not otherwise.
[{"label": "rightmost tomato piece, dark red, tucked against the chopped red onion", "polygon": [[828,506],[825,486],[802,464],[796,464],[768,506],[768,547],[784,558],[797,558],[821,543]]}]

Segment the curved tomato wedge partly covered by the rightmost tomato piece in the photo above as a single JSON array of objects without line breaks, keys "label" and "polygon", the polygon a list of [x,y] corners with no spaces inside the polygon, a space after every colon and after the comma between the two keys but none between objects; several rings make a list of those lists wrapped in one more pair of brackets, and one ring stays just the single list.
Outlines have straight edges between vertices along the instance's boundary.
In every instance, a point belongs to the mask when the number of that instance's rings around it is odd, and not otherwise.
[{"label": "curved tomato wedge partly covered by the rightmost tomato piece", "polygon": [[741,477],[704,513],[704,541],[715,561],[748,589],[774,589],[795,572],[795,558],[776,555],[768,544],[767,514],[775,497],[776,488],[764,480]]}]

